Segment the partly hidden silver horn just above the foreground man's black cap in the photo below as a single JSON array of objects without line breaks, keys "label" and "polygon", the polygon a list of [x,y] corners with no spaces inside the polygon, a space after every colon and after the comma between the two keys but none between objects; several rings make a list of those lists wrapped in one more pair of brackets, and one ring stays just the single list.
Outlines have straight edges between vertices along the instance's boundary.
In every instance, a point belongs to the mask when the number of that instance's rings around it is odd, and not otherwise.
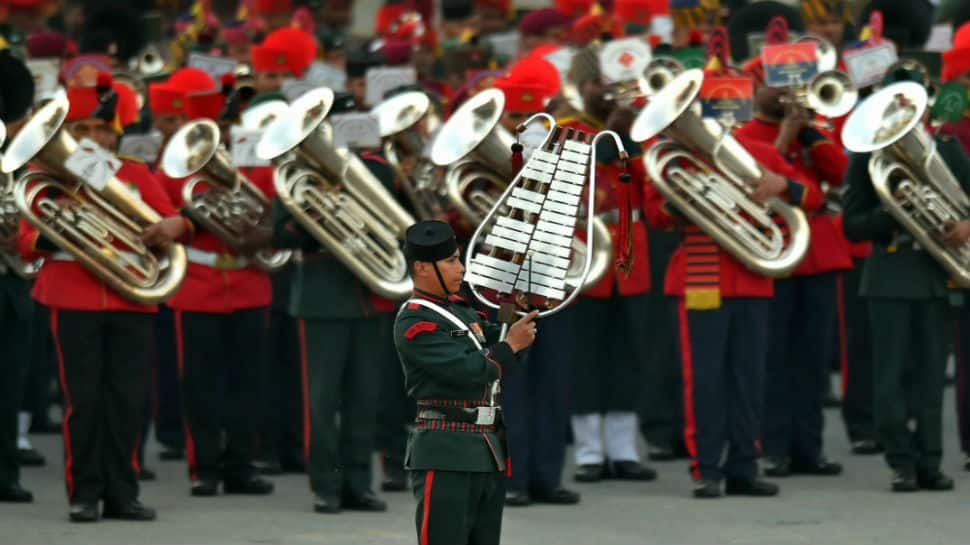
[{"label": "partly hidden silver horn just above the foreground man's black cap", "polygon": [[[391,164],[401,187],[420,219],[434,219],[444,213],[444,195],[438,167],[427,157],[428,135],[441,124],[431,99],[420,91],[395,95],[374,108],[384,157]],[[411,165],[405,163],[414,161]]]}]

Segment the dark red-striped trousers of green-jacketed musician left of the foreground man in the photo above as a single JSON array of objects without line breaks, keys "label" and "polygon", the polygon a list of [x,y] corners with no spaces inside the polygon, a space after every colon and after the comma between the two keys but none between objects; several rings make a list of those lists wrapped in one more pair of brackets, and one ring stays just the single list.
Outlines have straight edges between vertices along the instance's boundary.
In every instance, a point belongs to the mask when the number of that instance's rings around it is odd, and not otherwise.
[{"label": "dark red-striped trousers of green-jacketed musician left of the foreground man", "polygon": [[[371,490],[381,394],[381,318],[300,320],[307,471],[318,495]],[[340,425],[337,425],[337,415]]]}]

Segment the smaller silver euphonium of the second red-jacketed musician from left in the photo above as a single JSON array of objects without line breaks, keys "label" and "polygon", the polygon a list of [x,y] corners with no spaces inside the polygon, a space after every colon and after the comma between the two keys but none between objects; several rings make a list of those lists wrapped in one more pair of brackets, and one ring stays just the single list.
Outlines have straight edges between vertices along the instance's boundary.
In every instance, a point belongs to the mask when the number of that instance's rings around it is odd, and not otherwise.
[{"label": "smaller silver euphonium of the second red-jacketed musician from left", "polygon": [[[252,229],[270,221],[270,201],[233,165],[220,147],[219,126],[208,119],[187,123],[169,139],[162,172],[192,178],[182,186],[185,212],[230,248],[247,244]],[[267,271],[286,265],[291,252],[261,250],[256,262]]]}]

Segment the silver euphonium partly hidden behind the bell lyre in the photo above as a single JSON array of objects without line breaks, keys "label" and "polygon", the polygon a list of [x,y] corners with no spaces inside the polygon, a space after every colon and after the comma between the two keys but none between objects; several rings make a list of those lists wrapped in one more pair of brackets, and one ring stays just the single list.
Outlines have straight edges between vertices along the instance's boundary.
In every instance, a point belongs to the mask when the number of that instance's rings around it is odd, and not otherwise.
[{"label": "silver euphonium partly hidden behind the bell lyre", "polygon": [[[431,161],[448,168],[445,187],[449,200],[472,225],[485,221],[508,189],[508,180],[515,178],[512,170],[515,137],[499,124],[504,107],[502,91],[482,91],[455,110],[432,143]],[[603,220],[594,217],[591,232],[594,238],[588,239],[589,245],[573,240],[572,255],[580,257],[590,246],[594,251],[589,256],[590,271],[582,277],[584,287],[593,286],[603,278],[613,253],[610,231]],[[570,281],[574,284],[584,274],[582,263],[576,259],[570,266]]]}]

